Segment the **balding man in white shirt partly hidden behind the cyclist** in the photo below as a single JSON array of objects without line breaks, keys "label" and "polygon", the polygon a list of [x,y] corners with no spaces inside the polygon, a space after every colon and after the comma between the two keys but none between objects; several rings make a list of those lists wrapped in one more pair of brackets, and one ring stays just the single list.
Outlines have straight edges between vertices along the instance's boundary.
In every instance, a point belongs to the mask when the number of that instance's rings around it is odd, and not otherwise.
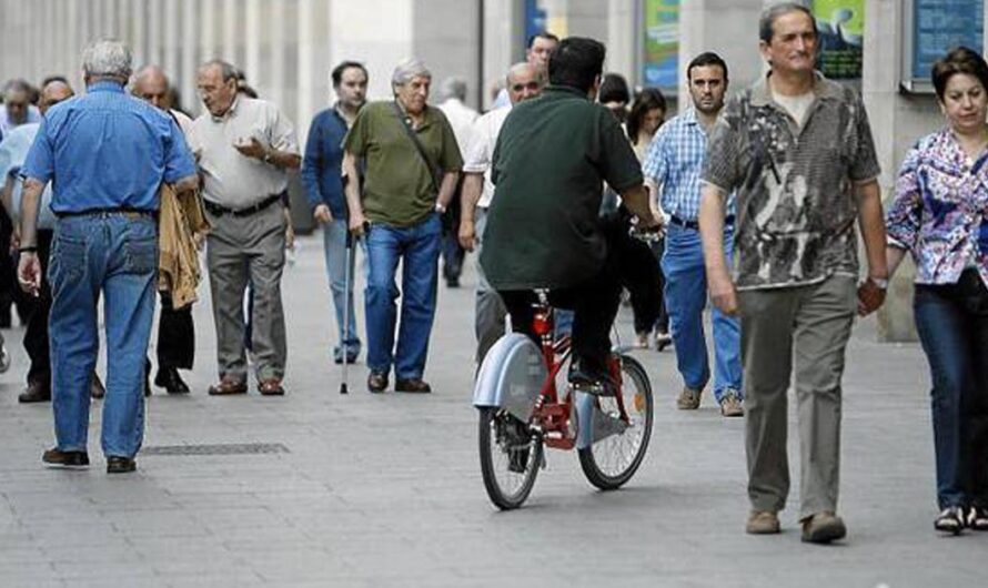
[{"label": "balding man in white shirt partly hidden behind the cyclist", "polygon": [[[545,78],[528,62],[515,63],[507,70],[507,95],[511,105],[492,110],[477,119],[471,132],[470,143],[463,153],[463,212],[460,217],[460,244],[466,251],[481,255],[487,207],[494,200],[491,182],[491,160],[504,120],[511,107],[542,94]],[[474,328],[477,336],[477,363],[484,361],[487,349],[504,334],[507,308],[497,292],[487,283],[484,268],[477,261],[477,293]]]}]

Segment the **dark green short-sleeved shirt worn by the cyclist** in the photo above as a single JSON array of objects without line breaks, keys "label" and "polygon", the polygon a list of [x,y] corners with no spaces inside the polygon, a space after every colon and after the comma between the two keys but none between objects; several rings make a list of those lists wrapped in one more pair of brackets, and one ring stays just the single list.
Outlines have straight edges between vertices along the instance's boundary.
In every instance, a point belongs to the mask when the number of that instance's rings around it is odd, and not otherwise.
[{"label": "dark green short-sleeved shirt worn by the cyclist", "polygon": [[573,88],[516,104],[497,138],[481,264],[496,290],[567,287],[607,255],[598,211],[606,181],[624,192],[642,166],[617,119]]}]

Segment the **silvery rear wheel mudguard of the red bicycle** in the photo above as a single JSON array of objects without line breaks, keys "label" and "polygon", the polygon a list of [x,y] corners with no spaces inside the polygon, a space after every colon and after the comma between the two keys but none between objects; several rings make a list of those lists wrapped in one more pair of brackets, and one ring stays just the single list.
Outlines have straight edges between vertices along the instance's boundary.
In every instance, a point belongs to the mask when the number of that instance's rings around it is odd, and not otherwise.
[{"label": "silvery rear wheel mudguard of the red bicycle", "polygon": [[481,364],[473,405],[497,406],[527,422],[547,376],[538,346],[521,333],[508,333],[497,339]]}]

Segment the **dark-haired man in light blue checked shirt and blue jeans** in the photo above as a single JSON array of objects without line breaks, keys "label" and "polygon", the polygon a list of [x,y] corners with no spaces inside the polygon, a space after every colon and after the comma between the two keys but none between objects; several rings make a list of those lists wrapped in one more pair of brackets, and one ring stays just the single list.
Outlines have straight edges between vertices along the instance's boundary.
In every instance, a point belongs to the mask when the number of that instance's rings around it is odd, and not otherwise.
[{"label": "dark-haired man in light blue checked shirt and blue jeans", "polygon": [[[676,363],[683,392],[676,405],[683,410],[699,407],[710,379],[703,311],[707,302],[703,243],[699,239],[700,173],[707,133],[724,107],[727,64],[716,53],[700,53],[686,68],[693,108],[665,123],[645,158],[646,182],[661,191],[661,204],[669,215],[662,271]],[[733,202],[732,202],[733,205]],[[730,255],[734,212],[725,223],[725,250]],[[724,416],[743,416],[740,328],[736,317],[714,308],[714,397]]]}]

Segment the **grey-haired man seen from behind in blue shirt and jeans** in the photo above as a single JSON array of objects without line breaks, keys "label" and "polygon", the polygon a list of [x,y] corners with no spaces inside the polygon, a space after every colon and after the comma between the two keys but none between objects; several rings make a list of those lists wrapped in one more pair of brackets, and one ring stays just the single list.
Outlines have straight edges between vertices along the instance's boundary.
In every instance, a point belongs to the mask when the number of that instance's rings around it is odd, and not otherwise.
[{"label": "grey-haired man seen from behind in blue shirt and jeans", "polygon": [[133,472],[143,437],[144,355],[154,315],[158,192],[198,185],[182,132],[165,113],[123,91],[131,53],[95,41],[82,53],[87,94],[52,108],[21,171],[18,278],[38,292],[38,204],[52,182],[52,408],[57,445],[51,466],[89,465],[89,382],[99,351],[97,305],[104,296],[107,396],[102,449],[110,474]]}]

